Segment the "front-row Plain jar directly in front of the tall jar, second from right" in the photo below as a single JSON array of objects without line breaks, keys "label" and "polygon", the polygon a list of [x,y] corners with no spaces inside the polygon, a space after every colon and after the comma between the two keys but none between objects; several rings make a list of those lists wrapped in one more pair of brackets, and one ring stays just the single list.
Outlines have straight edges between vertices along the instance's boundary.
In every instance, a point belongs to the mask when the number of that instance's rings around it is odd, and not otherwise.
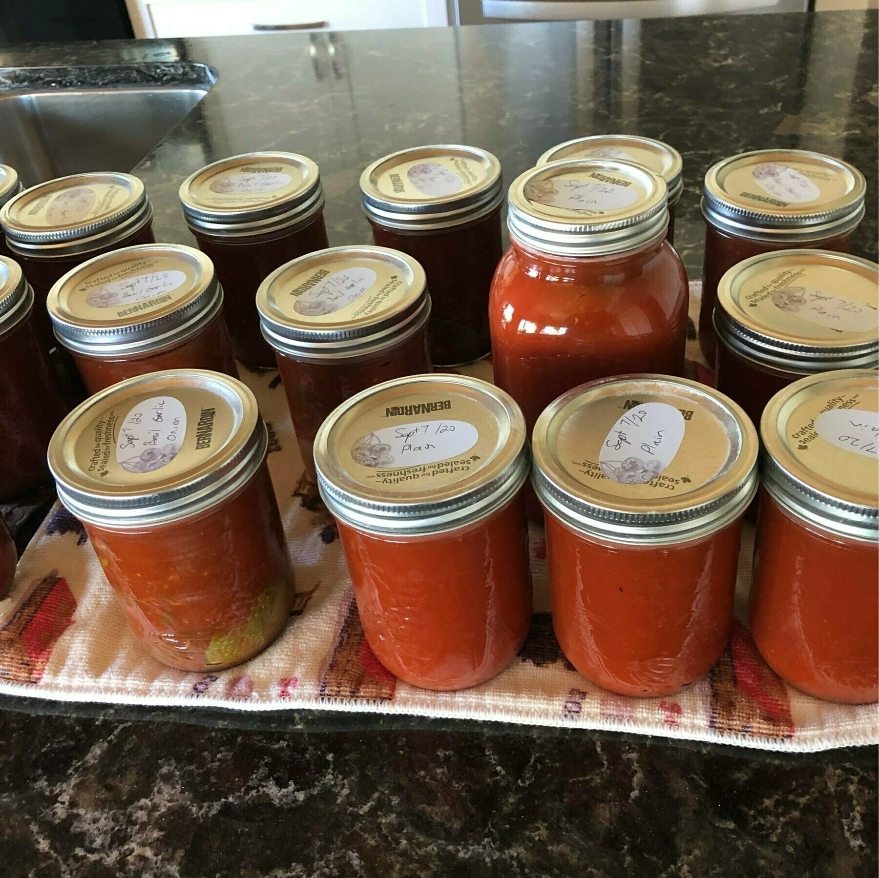
[{"label": "front-row Plain jar directly in front of the tall jar, second from right", "polygon": [[730,635],[757,432],[695,381],[592,381],[536,426],[553,628],[585,678],[623,695],[677,692]]}]

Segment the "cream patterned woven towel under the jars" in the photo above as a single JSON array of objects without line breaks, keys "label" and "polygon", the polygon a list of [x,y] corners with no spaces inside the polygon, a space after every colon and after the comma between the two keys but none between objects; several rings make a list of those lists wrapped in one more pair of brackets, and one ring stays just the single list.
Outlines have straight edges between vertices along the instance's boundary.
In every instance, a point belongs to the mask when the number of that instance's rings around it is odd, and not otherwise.
[{"label": "cream patterned woven towel under the jars", "polygon": [[[692,341],[689,355],[693,374],[705,377]],[[466,371],[490,378],[488,363]],[[538,528],[531,532],[534,620],[512,665],[459,693],[402,683],[385,671],[364,640],[336,528],[313,488],[301,481],[277,374],[245,372],[243,377],[269,424],[269,465],[299,589],[286,631],[261,655],[229,671],[185,673],[159,664],[134,641],[82,526],[56,505],[22,557],[10,597],[0,602],[0,693],[491,719],[768,750],[879,743],[875,704],[849,707],[810,698],[785,686],[759,657],[742,621],[751,579],[750,530],[742,547],[730,644],[712,671],[684,692],[664,699],[626,698],[592,686],[573,670],[552,632],[546,550]]]}]

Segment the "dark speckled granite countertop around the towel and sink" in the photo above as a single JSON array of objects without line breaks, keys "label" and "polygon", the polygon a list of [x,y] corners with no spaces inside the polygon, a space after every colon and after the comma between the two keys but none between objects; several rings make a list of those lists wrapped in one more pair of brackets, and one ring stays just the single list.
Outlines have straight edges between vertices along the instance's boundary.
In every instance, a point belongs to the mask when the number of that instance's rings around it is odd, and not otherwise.
[{"label": "dark speckled granite countertop around the towel and sink", "polygon": [[[490,149],[512,180],[552,144],[674,144],[677,241],[698,277],[701,175],[764,146],[868,178],[875,12],[487,25],[0,49],[4,67],[204,62],[219,80],[136,171],[160,240],[177,189],[251,149],[313,157],[332,244],[369,240],[360,170],[410,145]],[[69,76],[76,76],[71,71]],[[4,86],[0,76],[0,88]],[[814,756],[379,715],[0,701],[0,874],[876,874],[876,752]]]}]

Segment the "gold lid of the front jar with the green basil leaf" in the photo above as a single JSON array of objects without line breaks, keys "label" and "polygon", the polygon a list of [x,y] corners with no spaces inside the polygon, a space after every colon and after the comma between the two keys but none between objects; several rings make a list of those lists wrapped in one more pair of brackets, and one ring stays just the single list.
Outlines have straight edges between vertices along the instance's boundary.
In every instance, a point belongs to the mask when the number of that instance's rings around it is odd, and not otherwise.
[{"label": "gold lid of the front jar with the green basil leaf", "polygon": [[249,388],[228,375],[179,369],[91,396],[54,432],[48,461],[70,512],[124,528],[220,503],[258,469],[266,447]]}]

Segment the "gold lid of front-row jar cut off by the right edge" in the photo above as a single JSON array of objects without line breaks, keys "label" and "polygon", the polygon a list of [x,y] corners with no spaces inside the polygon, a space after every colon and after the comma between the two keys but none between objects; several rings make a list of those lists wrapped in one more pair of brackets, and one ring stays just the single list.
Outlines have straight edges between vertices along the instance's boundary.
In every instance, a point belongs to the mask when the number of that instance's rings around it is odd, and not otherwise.
[{"label": "gold lid of front-row jar cut off by the right edge", "polygon": [[879,536],[879,375],[843,369],[779,391],[760,420],[763,484],[810,524]]}]

